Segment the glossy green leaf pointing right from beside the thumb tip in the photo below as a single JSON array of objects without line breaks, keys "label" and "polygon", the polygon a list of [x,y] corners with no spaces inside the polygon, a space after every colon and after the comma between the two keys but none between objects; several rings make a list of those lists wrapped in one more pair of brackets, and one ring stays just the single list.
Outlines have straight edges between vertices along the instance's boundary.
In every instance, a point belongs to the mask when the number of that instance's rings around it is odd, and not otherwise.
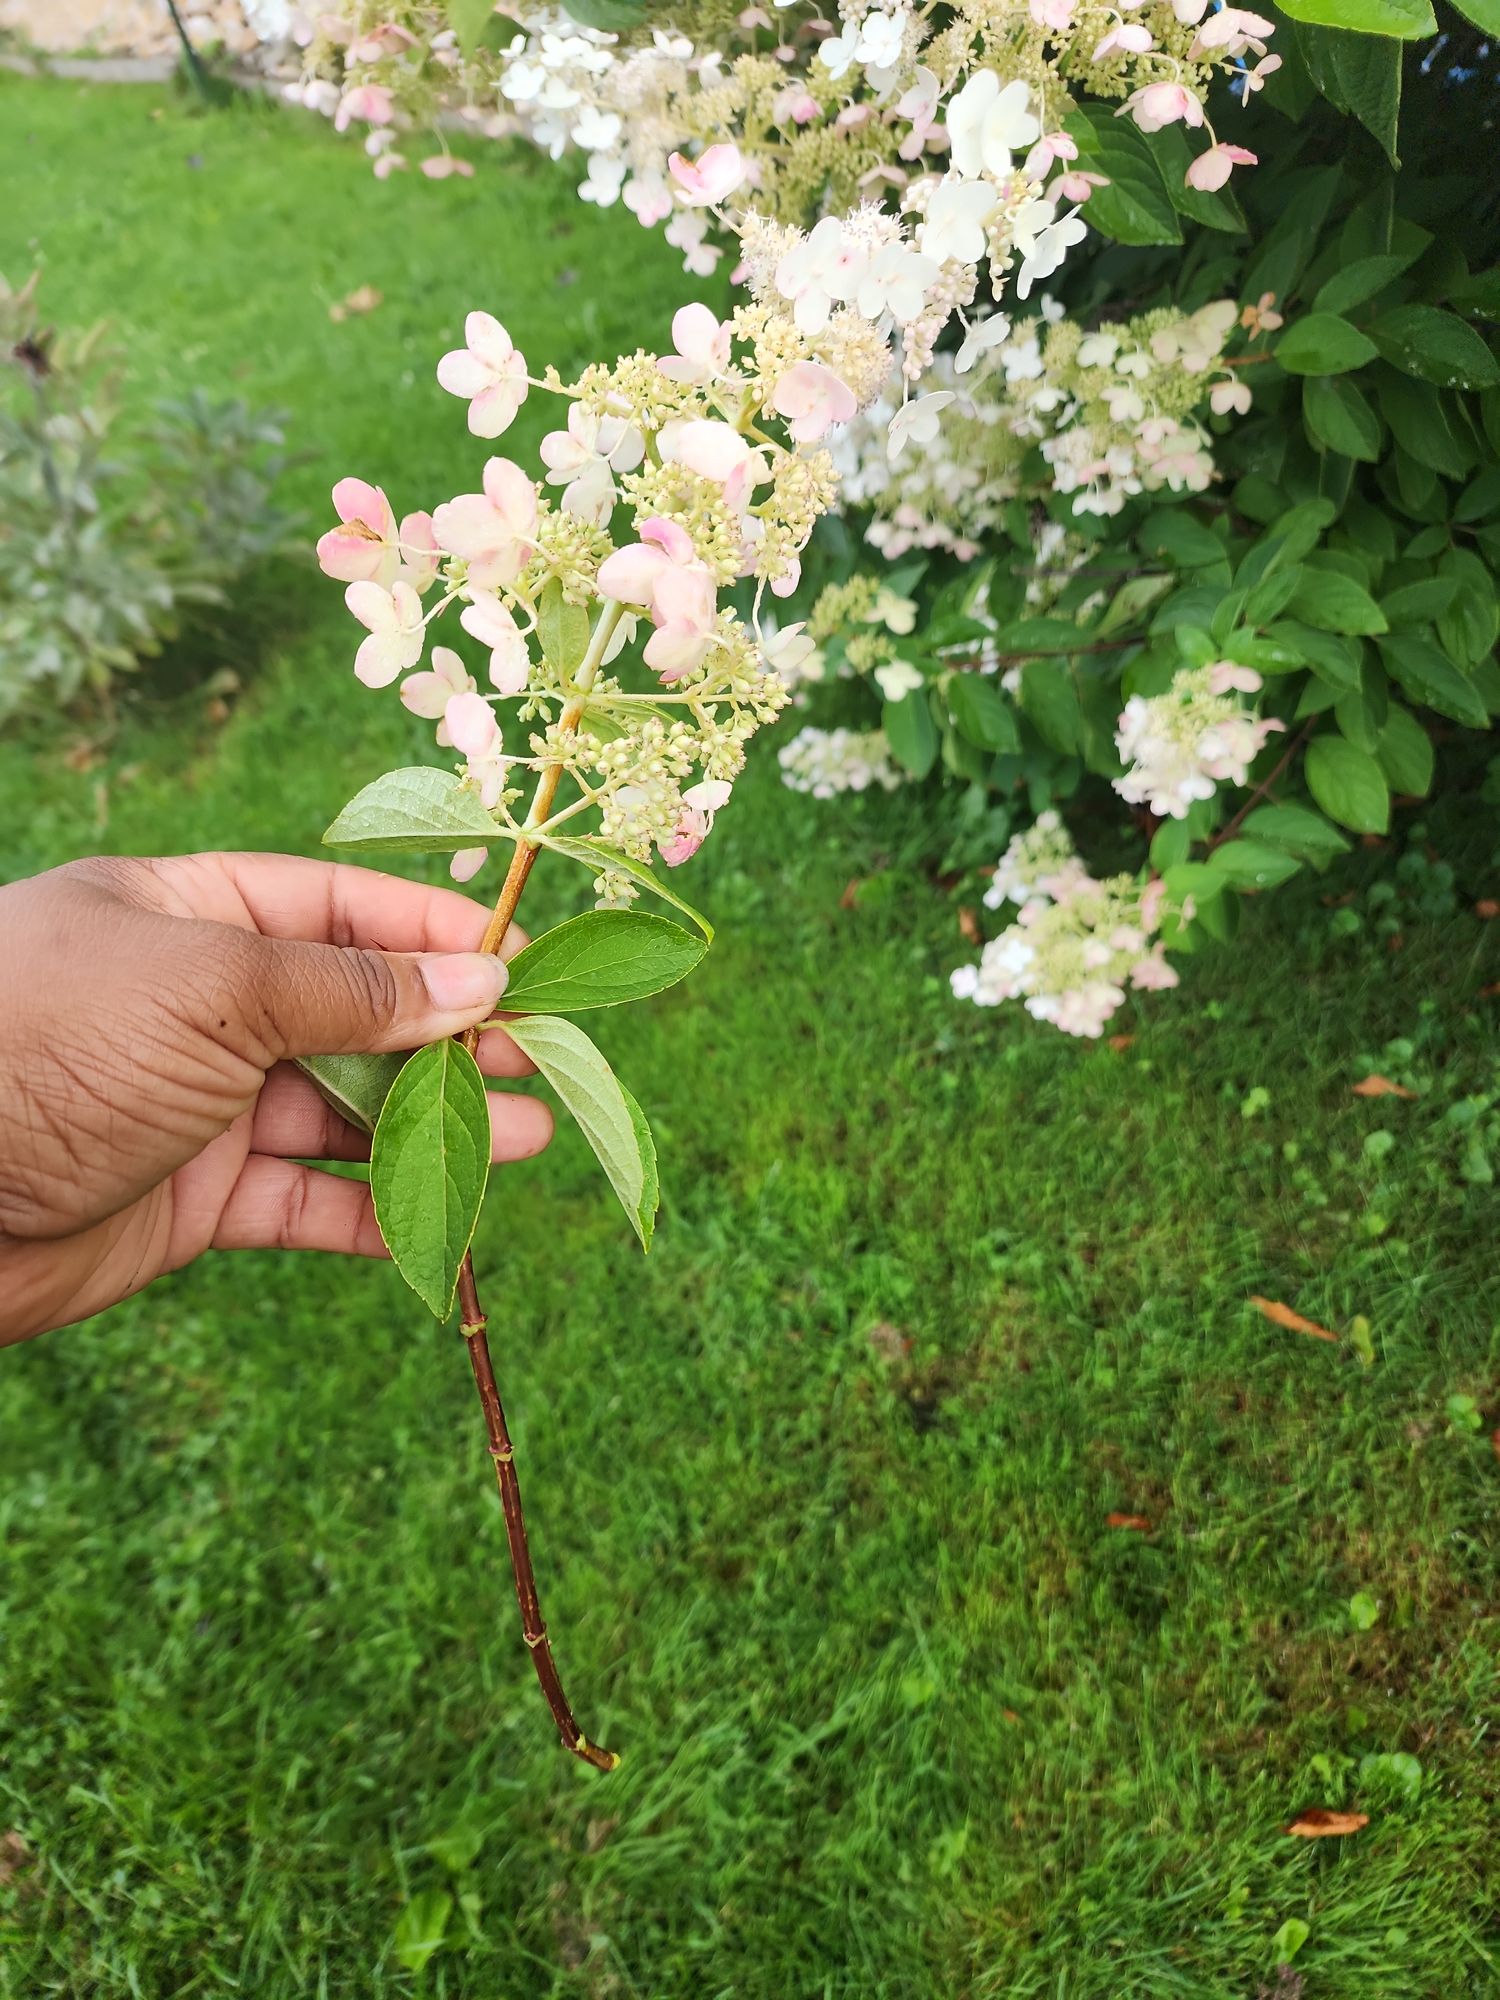
[{"label": "glossy green leaf pointing right from beside the thumb tip", "polygon": [[588,910],[516,952],[506,1010],[582,1014],[596,1006],[624,1006],[676,986],[706,950],[702,938],[664,916]]}]

